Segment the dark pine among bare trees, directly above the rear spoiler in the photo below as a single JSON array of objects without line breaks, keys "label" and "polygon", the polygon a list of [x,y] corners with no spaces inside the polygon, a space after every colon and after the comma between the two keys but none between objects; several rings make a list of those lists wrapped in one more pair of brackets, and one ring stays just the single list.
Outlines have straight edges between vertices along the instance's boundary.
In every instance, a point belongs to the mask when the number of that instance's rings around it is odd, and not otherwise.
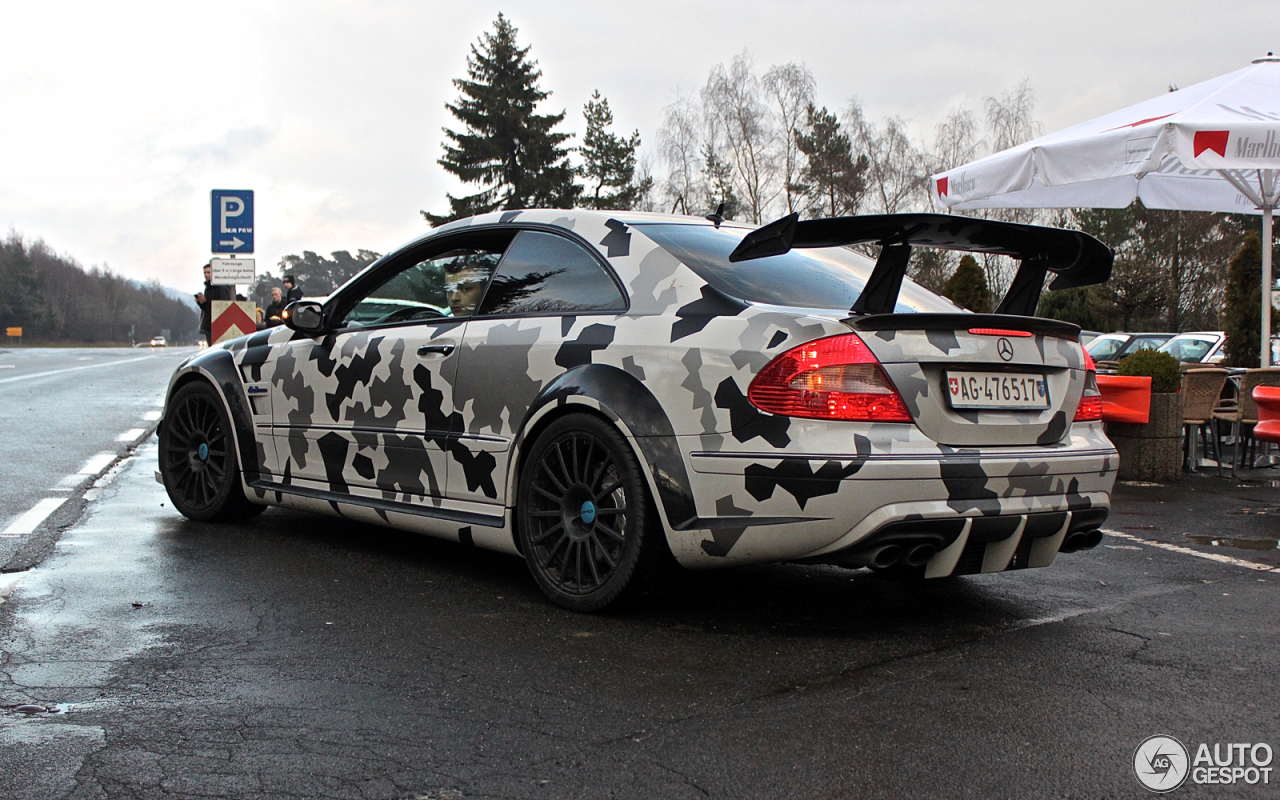
[{"label": "dark pine among bare trees, directly above the rear spoiler", "polygon": [[796,133],[796,147],[808,159],[792,189],[808,202],[810,216],[845,216],[858,211],[867,188],[867,156],[854,159],[840,119],[826,108],[809,105],[809,133]]}]

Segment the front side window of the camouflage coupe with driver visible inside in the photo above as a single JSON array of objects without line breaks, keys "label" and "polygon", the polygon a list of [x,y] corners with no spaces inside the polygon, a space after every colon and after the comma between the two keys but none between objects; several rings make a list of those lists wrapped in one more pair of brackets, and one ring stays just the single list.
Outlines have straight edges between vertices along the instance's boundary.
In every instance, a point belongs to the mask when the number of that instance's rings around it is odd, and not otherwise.
[{"label": "front side window of the camouflage coupe with driver visible inside", "polygon": [[452,247],[428,257],[408,256],[342,317],[342,328],[365,328],[475,314],[489,275],[511,234]]}]

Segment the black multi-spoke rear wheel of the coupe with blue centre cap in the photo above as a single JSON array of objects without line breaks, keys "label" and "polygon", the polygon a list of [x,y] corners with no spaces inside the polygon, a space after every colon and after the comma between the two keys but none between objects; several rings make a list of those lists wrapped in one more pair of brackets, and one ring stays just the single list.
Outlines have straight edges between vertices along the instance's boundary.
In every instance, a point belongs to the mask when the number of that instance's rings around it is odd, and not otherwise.
[{"label": "black multi-spoke rear wheel of the coupe with blue centre cap", "polygon": [[538,585],[573,611],[599,611],[634,590],[664,543],[649,530],[640,465],[611,425],[563,416],[538,436],[520,475],[521,549]]}]

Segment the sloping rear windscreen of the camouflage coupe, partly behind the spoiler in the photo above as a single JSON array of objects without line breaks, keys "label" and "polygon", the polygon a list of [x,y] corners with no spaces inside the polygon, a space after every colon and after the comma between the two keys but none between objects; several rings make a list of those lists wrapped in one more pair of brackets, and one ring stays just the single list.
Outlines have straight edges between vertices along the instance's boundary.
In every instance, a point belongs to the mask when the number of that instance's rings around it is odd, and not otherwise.
[{"label": "sloping rear windscreen of the camouflage coupe, partly behind the spoiler", "polygon": [[[641,233],[730,297],[748,302],[849,311],[876,262],[845,247],[792,250],[781,256],[730,264],[748,228],[640,224]],[[899,314],[954,314],[961,308],[910,278],[897,296]]]}]

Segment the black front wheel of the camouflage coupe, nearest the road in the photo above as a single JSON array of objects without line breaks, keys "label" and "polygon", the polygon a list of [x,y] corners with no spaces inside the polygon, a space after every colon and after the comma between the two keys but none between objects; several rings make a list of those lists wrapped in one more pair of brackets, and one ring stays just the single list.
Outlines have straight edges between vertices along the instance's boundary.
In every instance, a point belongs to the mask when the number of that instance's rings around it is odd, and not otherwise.
[{"label": "black front wheel of the camouflage coupe, nearest the road", "polygon": [[160,476],[183,516],[230,521],[262,511],[244,498],[234,448],[230,419],[211,385],[196,380],[174,393],[160,428]]}]

